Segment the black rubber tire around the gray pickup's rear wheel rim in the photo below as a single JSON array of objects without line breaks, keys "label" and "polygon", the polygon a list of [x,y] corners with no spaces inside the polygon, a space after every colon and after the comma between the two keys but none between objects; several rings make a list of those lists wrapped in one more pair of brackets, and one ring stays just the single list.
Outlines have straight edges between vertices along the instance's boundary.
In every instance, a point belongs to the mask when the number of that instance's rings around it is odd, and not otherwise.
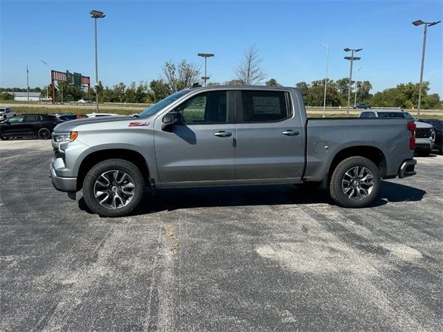
[{"label": "black rubber tire around the gray pickup's rear wheel rim", "polygon": [[[345,194],[345,190],[343,189],[343,179],[345,178],[346,172],[354,169],[354,167],[365,167],[368,169],[370,173],[372,173],[372,189],[368,190],[368,195],[359,199],[355,197],[354,199],[350,198]],[[353,181],[350,181],[351,185]],[[329,195],[331,198],[343,208],[363,208],[364,206],[370,204],[379,194],[380,190],[380,182],[381,176],[378,167],[372,163],[368,158],[364,158],[361,156],[352,156],[342,160],[341,163],[335,167],[334,172],[332,172],[331,181],[329,182]],[[361,187],[363,187],[363,183]],[[360,186],[360,184],[359,184]],[[350,188],[352,190],[352,188]],[[354,189],[354,192],[357,190]],[[361,193],[360,190],[358,190]]]}]

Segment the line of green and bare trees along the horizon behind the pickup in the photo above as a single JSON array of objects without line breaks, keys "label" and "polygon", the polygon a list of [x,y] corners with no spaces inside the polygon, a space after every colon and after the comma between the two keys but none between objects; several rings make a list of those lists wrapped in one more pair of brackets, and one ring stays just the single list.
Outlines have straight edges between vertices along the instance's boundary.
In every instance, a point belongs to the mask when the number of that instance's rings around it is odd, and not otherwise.
[{"label": "line of green and bare trees along the horizon behind the pickup", "polygon": [[[236,77],[226,82],[209,82],[211,85],[258,85],[268,77],[262,68],[262,59],[255,45],[244,50],[242,62],[235,68]],[[171,93],[186,89],[192,84],[201,83],[201,66],[186,59],[180,62],[168,61],[161,67],[159,78],[150,82],[141,81],[136,84],[132,82],[128,86],[123,82],[114,86],[103,86],[98,84],[99,102],[128,102],[128,103],[155,103],[165,98]],[[266,86],[281,86],[275,78],[270,78],[264,82]],[[347,94],[349,79],[343,77],[340,80],[327,80],[326,105],[328,107],[338,107],[347,105]],[[305,99],[307,106],[323,106],[325,93],[325,79],[308,82],[298,82],[295,84]],[[428,94],[429,82],[424,82],[422,88],[422,108],[423,109],[443,109],[443,101],[437,93]],[[385,89],[371,94],[372,84],[367,81],[353,81],[350,104],[354,102],[364,102],[372,107],[401,107],[413,109],[418,104],[419,84],[408,82],[397,84],[394,88]],[[26,89],[0,88],[0,99],[10,98],[4,91],[26,91]],[[43,89],[35,88],[30,91],[42,92],[45,94],[46,86]],[[52,91],[50,84],[49,91]],[[80,86],[71,86],[66,82],[57,82],[55,86],[56,100],[58,102],[69,102],[85,98],[87,91]],[[91,87],[91,98],[96,98],[96,91]]]}]

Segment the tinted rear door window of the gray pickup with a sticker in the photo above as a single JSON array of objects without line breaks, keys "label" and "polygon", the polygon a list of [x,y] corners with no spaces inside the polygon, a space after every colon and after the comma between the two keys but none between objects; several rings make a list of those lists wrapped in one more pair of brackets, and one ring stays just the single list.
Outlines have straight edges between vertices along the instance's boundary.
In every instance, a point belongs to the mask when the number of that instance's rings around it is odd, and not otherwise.
[{"label": "tinted rear door window of the gray pickup with a sticker", "polygon": [[242,91],[242,122],[273,122],[291,116],[284,91]]}]

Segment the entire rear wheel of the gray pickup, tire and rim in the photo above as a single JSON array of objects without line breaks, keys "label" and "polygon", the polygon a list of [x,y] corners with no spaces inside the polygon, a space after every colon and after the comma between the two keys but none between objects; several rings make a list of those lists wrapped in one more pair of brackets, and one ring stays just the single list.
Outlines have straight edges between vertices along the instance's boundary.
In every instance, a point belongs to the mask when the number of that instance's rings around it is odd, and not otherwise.
[{"label": "entire rear wheel of the gray pickup, tire and rim", "polygon": [[352,156],[342,160],[334,169],[329,194],[343,208],[362,208],[374,201],[380,182],[379,169],[371,160]]}]

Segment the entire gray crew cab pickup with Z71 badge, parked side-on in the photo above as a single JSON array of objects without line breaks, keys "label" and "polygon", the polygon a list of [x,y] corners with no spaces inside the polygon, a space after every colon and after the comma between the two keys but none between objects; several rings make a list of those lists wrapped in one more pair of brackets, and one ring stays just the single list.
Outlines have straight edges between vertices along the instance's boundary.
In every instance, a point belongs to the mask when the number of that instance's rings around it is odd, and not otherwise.
[{"label": "entire gray crew cab pickup with Z71 badge, parked side-on", "polygon": [[346,208],[370,204],[381,178],[415,174],[413,119],[307,119],[296,88],[196,87],[134,116],[63,122],[52,136],[57,190],[83,191],[123,216],[145,187],[318,185]]}]

